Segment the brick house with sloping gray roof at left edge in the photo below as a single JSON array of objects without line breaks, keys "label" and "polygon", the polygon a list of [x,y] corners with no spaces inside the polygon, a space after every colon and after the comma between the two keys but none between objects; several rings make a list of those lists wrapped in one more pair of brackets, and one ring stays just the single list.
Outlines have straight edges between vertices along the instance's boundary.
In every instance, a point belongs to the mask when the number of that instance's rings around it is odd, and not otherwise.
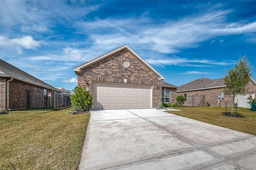
[{"label": "brick house with sloping gray roof at left edge", "polygon": [[56,88],[0,59],[0,109],[28,108],[28,90]]}]

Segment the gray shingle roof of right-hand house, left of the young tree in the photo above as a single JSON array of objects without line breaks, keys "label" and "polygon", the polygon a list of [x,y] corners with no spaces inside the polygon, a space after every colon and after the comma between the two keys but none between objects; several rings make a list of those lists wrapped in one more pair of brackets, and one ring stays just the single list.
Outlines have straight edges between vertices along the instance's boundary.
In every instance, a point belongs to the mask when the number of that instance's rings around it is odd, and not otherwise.
[{"label": "gray shingle roof of right-hand house, left of the young tree", "polygon": [[214,88],[214,87],[224,87],[224,86],[225,86],[224,78],[218,78],[214,80],[211,80],[208,78],[200,78],[192,82],[189,82],[187,84],[179,86],[177,89],[177,92],[207,89],[207,88]]}]

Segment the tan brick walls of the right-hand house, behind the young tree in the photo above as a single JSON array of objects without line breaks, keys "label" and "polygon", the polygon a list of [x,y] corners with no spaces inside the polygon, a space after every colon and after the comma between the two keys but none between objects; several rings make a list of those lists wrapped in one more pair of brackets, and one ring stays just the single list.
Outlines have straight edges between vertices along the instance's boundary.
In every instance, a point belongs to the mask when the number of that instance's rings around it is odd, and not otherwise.
[{"label": "tan brick walls of the right-hand house, behind the young tree", "polygon": [[[221,92],[224,92],[224,88],[211,88],[211,89],[204,89],[204,90],[195,90],[190,92],[177,92],[177,95],[184,95],[187,96],[196,96],[196,95],[204,95],[204,105],[206,102],[210,102],[210,106],[218,106],[218,96],[220,96]],[[256,86],[249,82],[247,85],[247,92],[256,92]],[[231,106],[232,98],[231,96],[224,95],[227,98],[227,106]],[[185,104],[186,105],[186,102]],[[225,106],[225,99],[220,101],[219,106]]]}]

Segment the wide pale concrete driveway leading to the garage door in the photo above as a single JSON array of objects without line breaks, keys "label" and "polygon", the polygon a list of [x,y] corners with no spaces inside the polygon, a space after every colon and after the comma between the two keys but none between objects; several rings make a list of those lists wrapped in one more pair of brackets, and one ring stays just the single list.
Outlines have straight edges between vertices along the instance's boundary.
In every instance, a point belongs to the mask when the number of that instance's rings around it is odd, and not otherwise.
[{"label": "wide pale concrete driveway leading to the garage door", "polygon": [[79,170],[256,170],[256,136],[156,109],[92,111]]}]

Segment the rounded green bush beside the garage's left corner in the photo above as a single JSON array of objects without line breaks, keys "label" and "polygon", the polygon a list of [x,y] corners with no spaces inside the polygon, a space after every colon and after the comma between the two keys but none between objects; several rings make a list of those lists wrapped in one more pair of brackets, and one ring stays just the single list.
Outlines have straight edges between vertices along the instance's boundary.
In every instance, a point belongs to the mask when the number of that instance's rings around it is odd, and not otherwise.
[{"label": "rounded green bush beside the garage's left corner", "polygon": [[89,111],[93,105],[92,94],[80,86],[74,88],[74,94],[70,98],[72,106],[77,111]]}]

